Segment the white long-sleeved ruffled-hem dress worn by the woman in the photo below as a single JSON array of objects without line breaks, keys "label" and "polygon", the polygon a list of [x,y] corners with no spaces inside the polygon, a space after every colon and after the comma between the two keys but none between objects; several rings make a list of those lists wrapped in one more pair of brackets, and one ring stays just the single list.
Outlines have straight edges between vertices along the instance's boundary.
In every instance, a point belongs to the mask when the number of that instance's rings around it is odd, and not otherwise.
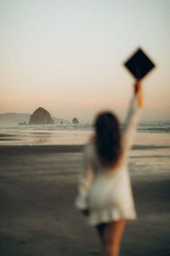
[{"label": "white long-sleeved ruffled-hem dress worn by the woman", "polygon": [[88,223],[92,226],[136,218],[127,158],[136,130],[138,112],[134,96],[122,133],[123,153],[112,170],[103,168],[92,142],[85,146],[75,205],[79,210],[89,210]]}]

